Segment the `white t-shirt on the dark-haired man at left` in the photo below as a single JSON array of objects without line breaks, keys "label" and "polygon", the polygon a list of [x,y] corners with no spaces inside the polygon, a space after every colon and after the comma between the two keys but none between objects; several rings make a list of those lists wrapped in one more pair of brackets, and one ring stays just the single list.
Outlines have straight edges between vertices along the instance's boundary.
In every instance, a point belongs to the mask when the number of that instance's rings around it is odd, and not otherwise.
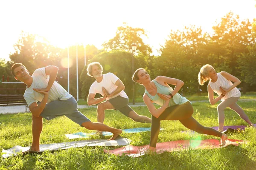
[{"label": "white t-shirt on the dark-haired man at left", "polygon": [[[33,88],[47,88],[49,82],[49,76],[45,74],[45,67],[38,68],[32,74],[33,82],[29,88],[26,88],[24,93],[24,98],[28,105],[31,105],[33,102],[41,102],[44,98],[44,94],[38,93],[33,90]],[[71,94],[60,85],[58,82],[52,84],[52,88],[49,90],[49,97],[47,103],[55,100],[67,100],[73,97]]]}]

